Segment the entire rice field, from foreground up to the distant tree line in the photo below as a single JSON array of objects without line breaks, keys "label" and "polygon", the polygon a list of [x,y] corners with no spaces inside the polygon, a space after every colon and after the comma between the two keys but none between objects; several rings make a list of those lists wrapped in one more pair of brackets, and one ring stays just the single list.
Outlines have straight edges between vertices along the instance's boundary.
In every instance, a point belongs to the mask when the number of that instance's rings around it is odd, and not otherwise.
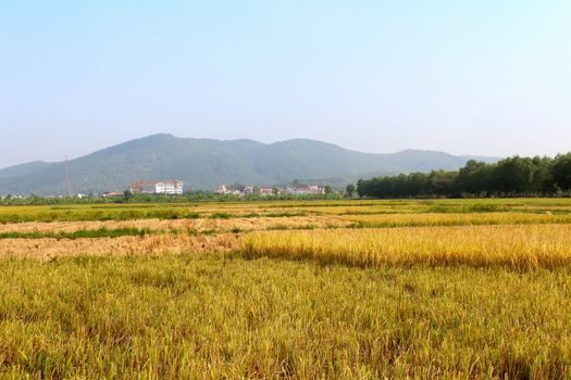
[{"label": "entire rice field, from foreground up to the distant tree line", "polygon": [[0,207],[0,378],[571,378],[571,200]]}]

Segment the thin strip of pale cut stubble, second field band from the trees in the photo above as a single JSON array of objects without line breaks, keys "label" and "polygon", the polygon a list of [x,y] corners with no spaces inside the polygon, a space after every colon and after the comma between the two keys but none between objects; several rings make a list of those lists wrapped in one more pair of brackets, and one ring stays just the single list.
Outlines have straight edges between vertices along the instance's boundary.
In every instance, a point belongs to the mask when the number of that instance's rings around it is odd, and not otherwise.
[{"label": "thin strip of pale cut stubble, second field band from the trees", "polygon": [[[0,225],[0,239],[4,238],[74,238],[112,237],[123,235],[161,233],[238,233],[284,229],[333,228],[392,228],[486,225],[571,224],[571,214],[548,215],[530,213],[473,213],[473,214],[382,214],[382,215],[325,215],[293,216],[287,218],[256,217],[232,219],[139,219],[18,223]],[[89,236],[91,235],[91,236]]]}]

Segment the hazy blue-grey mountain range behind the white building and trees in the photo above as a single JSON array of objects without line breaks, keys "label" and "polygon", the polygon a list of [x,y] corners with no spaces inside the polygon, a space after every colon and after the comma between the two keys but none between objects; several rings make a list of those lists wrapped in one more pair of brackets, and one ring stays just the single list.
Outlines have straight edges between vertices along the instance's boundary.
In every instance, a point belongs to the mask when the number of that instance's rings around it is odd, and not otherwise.
[{"label": "hazy blue-grey mountain range behind the white building and trees", "polygon": [[[495,161],[494,157],[479,157]],[[253,140],[187,139],[153,135],[71,160],[73,192],[123,190],[138,179],[181,179],[185,190],[218,183],[275,185],[293,179],[334,179],[336,183],[375,175],[455,169],[467,157],[406,150],[371,154],[332,143],[295,139],[271,144]],[[32,162],[0,169],[0,194],[60,194],[65,163]]]}]

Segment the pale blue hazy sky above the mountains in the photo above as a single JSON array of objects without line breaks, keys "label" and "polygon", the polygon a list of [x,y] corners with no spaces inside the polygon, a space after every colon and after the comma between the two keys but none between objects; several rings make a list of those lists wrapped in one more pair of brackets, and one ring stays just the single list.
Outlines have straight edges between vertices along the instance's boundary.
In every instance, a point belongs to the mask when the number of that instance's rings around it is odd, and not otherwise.
[{"label": "pale blue hazy sky above the mountains", "polygon": [[569,0],[0,0],[0,167],[157,132],[571,150]]}]

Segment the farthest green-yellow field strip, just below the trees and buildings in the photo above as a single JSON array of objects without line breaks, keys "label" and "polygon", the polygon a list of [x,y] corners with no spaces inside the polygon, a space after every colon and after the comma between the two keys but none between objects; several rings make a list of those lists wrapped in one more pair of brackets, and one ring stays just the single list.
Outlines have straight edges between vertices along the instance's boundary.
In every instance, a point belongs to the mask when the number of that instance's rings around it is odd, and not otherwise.
[{"label": "farthest green-yellow field strip, just below the trees and buildings", "polygon": [[571,215],[570,199],[314,201],[0,207],[0,224],[26,221],[258,218],[315,215],[531,213]]}]

